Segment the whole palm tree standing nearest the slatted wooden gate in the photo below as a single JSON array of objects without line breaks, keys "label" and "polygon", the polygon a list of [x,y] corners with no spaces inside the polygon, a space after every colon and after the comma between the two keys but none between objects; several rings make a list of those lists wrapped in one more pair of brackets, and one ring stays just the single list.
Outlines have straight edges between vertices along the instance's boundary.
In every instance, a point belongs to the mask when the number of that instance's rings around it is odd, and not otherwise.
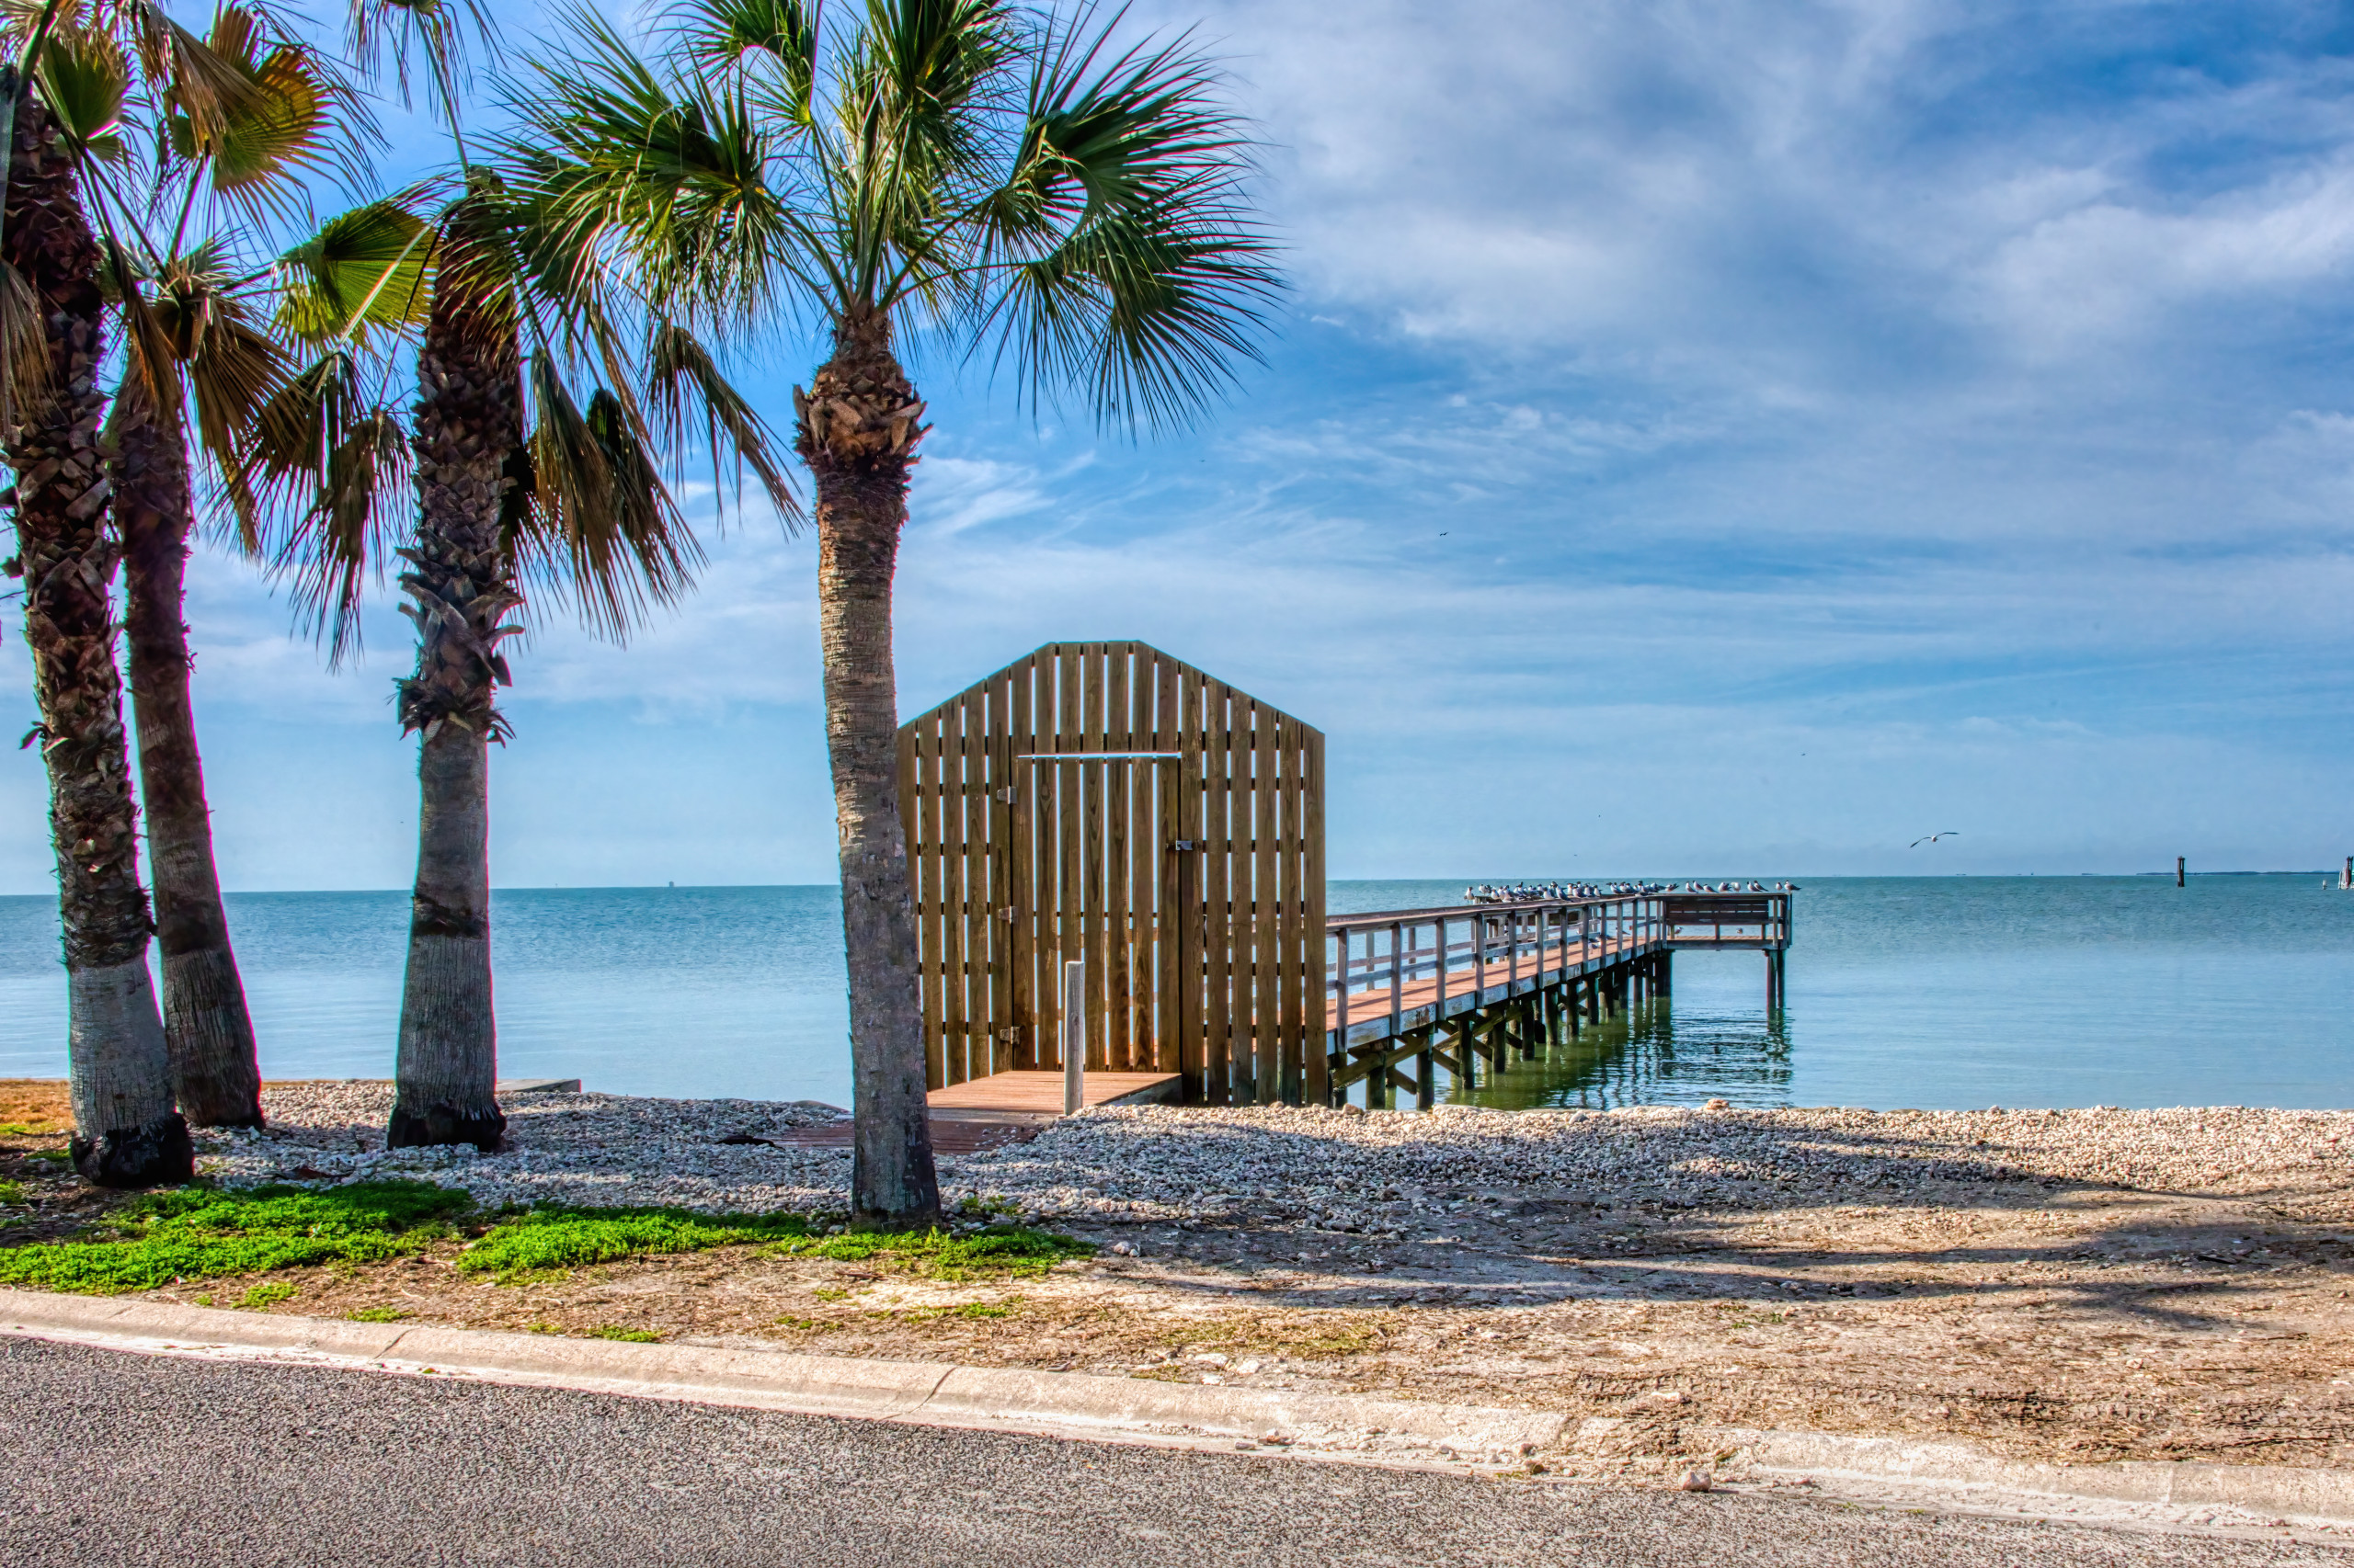
[{"label": "whole palm tree standing nearest the slatted wooden gate", "polygon": [[[852,1217],[939,1215],[897,798],[892,570],[925,405],[899,344],[1008,365],[1106,424],[1203,410],[1274,297],[1250,139],[1189,40],[1121,47],[1118,14],[1008,0],[685,0],[659,66],[572,16],[518,92],[520,137],[579,245],[664,308],[732,330],[810,320],[793,388],[817,487],[819,638],[857,1097]],[[591,240],[593,235],[593,240]]]}]

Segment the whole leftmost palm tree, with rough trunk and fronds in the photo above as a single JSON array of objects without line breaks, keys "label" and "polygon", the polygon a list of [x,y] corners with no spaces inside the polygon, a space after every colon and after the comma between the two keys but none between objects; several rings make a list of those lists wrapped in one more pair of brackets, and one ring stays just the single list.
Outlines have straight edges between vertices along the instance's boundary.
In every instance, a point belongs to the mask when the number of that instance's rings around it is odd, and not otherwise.
[{"label": "whole leftmost palm tree, with rough trunk and fronds", "polygon": [[[80,172],[108,146],[122,59],[134,54],[155,101],[198,137],[219,134],[242,85],[212,49],[153,5],[85,16],[49,0],[5,31],[21,52],[0,66],[12,129],[0,202],[0,447],[16,471],[26,643],[49,772],[59,866],[73,1085],[73,1163],[92,1182],[144,1187],[193,1170],[174,1109],[172,1059],[139,883],[139,831],[113,652],[111,476],[99,436],[106,351],[106,254],[92,233]],[[127,45],[127,47],[125,47]],[[97,108],[94,108],[97,106]],[[85,134],[87,132],[87,134]],[[78,167],[80,165],[80,167]],[[120,247],[115,247],[120,254]],[[113,268],[120,273],[120,268]]]}]

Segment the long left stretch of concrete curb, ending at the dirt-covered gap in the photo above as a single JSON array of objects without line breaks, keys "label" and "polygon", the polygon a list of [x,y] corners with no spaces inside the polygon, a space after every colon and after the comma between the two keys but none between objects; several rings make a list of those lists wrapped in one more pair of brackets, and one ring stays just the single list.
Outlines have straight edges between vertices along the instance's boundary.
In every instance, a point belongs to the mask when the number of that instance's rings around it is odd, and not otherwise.
[{"label": "long left stretch of concrete curb, ending at the dirt-covered gap", "polygon": [[1565,1427],[1563,1415],[1544,1410],[1217,1389],[937,1361],[567,1340],[485,1328],[348,1323],[40,1290],[0,1290],[0,1335],[162,1356],[466,1375],[483,1382],[937,1427],[1281,1441],[1316,1453],[1408,1462],[1511,1464],[1554,1448]]}]

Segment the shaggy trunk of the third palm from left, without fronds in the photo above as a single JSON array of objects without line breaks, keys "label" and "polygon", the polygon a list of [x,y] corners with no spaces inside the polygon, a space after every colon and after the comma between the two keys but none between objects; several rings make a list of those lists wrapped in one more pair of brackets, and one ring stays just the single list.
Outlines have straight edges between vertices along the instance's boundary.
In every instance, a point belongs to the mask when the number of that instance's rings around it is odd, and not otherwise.
[{"label": "shaggy trunk of the third palm from left, without fronds", "polygon": [[417,356],[417,544],[400,574],[417,622],[417,676],[400,683],[403,735],[419,746],[417,892],[400,996],[400,1062],[386,1144],[497,1149],[497,1026],[490,1008],[490,739],[499,638],[523,603],[499,549],[506,454],[523,445],[511,325],[443,273]]}]

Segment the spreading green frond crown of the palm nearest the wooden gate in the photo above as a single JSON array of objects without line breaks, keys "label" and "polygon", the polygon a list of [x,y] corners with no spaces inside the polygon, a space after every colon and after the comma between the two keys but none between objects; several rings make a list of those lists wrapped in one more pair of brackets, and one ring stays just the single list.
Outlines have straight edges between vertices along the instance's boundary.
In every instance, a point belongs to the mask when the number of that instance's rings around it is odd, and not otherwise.
[{"label": "spreading green frond crown of the palm nearest the wooden gate", "polygon": [[1189,40],[1003,0],[869,0],[840,38],[796,0],[673,16],[650,61],[574,14],[511,97],[567,242],[661,308],[880,311],[1144,426],[1255,353],[1278,283],[1252,144]]}]

